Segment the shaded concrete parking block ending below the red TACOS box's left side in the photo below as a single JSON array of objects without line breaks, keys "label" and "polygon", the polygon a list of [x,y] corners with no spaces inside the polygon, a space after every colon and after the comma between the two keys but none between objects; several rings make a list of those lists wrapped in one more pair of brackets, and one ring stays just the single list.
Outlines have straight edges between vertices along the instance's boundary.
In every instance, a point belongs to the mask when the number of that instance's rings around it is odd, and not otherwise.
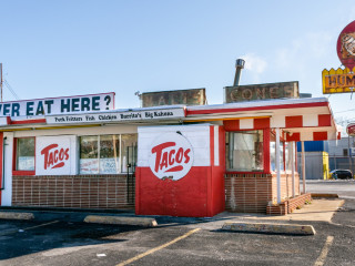
[{"label": "shaded concrete parking block ending below the red TACOS box's left side", "polygon": [[158,225],[154,218],[99,216],[99,215],[88,215],[84,218],[84,222],[95,223],[95,224],[138,225],[138,226],[144,226],[144,227],[153,227]]}]

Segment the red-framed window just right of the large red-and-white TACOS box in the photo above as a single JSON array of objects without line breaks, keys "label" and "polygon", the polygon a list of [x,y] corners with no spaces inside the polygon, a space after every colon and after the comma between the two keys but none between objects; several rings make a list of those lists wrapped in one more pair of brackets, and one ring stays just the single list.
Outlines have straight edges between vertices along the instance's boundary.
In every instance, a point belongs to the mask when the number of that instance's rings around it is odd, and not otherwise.
[{"label": "red-framed window just right of the large red-and-white TACOS box", "polygon": [[263,131],[229,133],[227,168],[241,172],[263,170]]}]

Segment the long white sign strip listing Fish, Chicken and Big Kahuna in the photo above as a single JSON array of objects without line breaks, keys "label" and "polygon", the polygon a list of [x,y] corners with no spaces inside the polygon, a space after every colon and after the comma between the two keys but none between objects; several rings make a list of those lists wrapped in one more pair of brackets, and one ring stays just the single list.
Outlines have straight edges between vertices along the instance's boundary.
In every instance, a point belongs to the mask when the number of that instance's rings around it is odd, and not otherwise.
[{"label": "long white sign strip listing Fish, Chicken and Big Kahuna", "polygon": [[101,112],[88,114],[48,115],[48,124],[72,124],[72,123],[109,123],[125,121],[149,121],[181,119],[185,116],[184,108],[175,109],[152,109],[124,112]]}]

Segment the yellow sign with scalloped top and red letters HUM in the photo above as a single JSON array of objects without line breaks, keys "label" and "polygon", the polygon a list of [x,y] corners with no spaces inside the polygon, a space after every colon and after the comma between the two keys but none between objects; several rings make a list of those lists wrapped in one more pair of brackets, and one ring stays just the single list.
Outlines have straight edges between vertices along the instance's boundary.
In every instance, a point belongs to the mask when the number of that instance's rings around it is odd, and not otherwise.
[{"label": "yellow sign with scalloped top and red letters HUM", "polygon": [[[354,69],[355,70],[355,69]],[[353,71],[354,71],[353,70]],[[323,94],[353,92],[355,74],[349,69],[322,71]]]}]

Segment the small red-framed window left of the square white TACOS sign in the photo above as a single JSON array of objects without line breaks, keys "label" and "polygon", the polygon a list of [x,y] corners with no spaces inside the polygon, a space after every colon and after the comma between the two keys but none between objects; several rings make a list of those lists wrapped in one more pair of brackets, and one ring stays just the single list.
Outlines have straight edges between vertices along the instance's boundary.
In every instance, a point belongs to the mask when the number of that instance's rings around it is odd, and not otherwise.
[{"label": "small red-framed window left of the square white TACOS sign", "polygon": [[34,171],[34,137],[17,139],[16,170]]}]

